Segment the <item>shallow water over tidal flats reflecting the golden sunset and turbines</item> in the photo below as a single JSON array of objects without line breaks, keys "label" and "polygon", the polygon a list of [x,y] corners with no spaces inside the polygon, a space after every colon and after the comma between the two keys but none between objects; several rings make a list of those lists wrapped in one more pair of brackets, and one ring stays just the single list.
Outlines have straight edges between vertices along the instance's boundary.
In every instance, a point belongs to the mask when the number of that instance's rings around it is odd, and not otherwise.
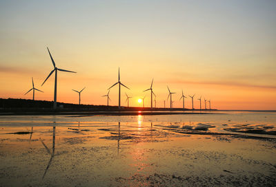
[{"label": "shallow water over tidal flats reflecting the golden sunset and turbines", "polygon": [[1,116],[0,186],[275,186],[276,113]]}]

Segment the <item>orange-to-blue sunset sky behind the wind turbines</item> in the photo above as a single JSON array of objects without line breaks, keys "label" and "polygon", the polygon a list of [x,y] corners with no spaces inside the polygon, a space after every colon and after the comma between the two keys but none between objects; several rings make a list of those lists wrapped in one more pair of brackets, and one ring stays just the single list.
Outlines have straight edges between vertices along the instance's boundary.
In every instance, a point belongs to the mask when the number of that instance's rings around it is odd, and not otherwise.
[{"label": "orange-to-blue sunset sky behind the wind turbines", "polygon": [[[215,109],[276,109],[276,1],[0,1],[0,98],[106,104],[121,83],[121,105],[141,106],[150,87],[157,107],[182,107],[184,95],[211,100]],[[118,87],[110,89],[118,104]],[[191,99],[186,98],[186,108]],[[204,106],[204,102],[202,102]]]}]

